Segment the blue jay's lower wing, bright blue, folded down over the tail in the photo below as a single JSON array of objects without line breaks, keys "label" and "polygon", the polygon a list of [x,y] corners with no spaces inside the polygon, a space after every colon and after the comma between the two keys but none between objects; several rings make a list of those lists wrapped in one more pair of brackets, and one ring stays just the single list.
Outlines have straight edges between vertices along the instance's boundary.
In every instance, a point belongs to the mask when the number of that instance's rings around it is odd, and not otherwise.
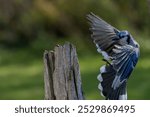
[{"label": "blue jay's lower wing, bright blue, folded down over the tail", "polygon": [[112,88],[118,88],[130,76],[133,68],[138,61],[138,48],[131,45],[117,46],[113,49],[112,56],[113,68],[117,71]]}]

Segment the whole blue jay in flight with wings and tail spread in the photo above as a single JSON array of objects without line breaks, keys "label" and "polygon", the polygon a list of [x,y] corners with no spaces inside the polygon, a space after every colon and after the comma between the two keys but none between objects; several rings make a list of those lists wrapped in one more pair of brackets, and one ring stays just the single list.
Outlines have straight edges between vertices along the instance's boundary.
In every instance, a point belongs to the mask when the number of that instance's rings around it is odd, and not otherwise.
[{"label": "whole blue jay in flight with wings and tail spread", "polygon": [[93,13],[87,19],[93,42],[106,62],[97,77],[101,95],[107,100],[127,100],[127,80],[139,58],[139,44],[128,31],[119,31]]}]

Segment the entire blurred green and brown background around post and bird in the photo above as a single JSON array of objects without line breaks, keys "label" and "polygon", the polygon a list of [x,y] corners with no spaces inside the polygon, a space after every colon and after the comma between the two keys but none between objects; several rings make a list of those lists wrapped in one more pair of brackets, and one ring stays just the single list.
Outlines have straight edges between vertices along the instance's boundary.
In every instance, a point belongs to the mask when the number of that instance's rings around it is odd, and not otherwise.
[{"label": "entire blurred green and brown background around post and bird", "polygon": [[85,98],[103,99],[97,75],[104,62],[90,38],[90,12],[139,42],[128,98],[150,99],[150,0],[0,0],[0,99],[44,99],[43,52],[66,41],[76,46]]}]

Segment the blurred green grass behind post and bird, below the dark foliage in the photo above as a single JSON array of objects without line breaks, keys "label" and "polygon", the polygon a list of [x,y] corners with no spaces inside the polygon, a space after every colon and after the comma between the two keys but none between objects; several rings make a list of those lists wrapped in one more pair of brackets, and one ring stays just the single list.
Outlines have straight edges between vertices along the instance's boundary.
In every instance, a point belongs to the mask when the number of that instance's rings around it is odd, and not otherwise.
[{"label": "blurred green grass behind post and bird, below the dark foliage", "polygon": [[[128,81],[128,98],[150,99],[149,41],[137,40],[141,45],[141,53]],[[33,49],[0,49],[0,99],[44,99],[44,50],[39,53],[31,50]],[[86,99],[103,99],[97,88],[97,75],[100,66],[105,63],[96,48],[93,53],[89,50],[79,52],[83,91]]]}]

